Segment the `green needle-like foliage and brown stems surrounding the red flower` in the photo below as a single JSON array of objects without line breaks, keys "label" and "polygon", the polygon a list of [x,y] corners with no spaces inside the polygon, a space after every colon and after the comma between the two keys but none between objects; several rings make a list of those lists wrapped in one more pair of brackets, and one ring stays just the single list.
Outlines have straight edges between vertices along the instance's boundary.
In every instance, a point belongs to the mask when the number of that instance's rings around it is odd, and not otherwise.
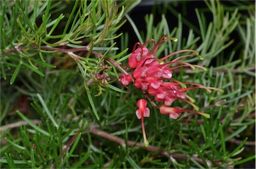
[{"label": "green needle-like foliage and brown stems surrounding the red flower", "polygon": [[[146,15],[141,31],[129,15],[138,3],[0,2],[1,168],[255,167],[255,4],[205,1],[195,9],[198,25],[173,4],[155,5],[161,21]],[[177,16],[174,29],[167,13]],[[165,41],[157,57],[181,49],[204,57],[183,61],[208,71],[180,69],[175,79],[225,91],[189,92],[210,119],[171,120],[148,105],[147,148],[135,116],[143,94],[115,81],[129,57],[126,19],[141,43],[179,39]]]}]

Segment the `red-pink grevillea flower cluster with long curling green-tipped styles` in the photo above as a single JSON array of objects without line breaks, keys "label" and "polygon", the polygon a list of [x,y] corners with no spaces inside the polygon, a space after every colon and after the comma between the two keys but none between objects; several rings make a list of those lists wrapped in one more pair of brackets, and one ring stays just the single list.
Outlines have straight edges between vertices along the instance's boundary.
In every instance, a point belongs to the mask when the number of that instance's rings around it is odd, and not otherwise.
[{"label": "red-pink grevillea flower cluster with long curling green-tipped styles", "polygon": [[[143,45],[140,43],[136,43],[133,47],[133,53],[128,59],[128,65],[132,69],[133,77],[131,75],[122,75],[119,77],[119,81],[123,86],[127,86],[131,81],[134,82],[136,88],[139,88],[145,96],[150,98],[151,96],[154,98],[155,102],[160,104],[157,106],[153,103],[153,106],[159,108],[161,114],[167,114],[170,118],[177,119],[181,115],[182,112],[193,112],[195,114],[201,114],[206,118],[209,118],[209,114],[204,112],[199,112],[199,108],[194,104],[195,99],[191,98],[191,96],[187,95],[186,92],[188,90],[193,90],[195,88],[204,88],[207,92],[211,92],[213,90],[219,90],[218,88],[207,87],[203,85],[199,85],[197,83],[181,83],[175,79],[173,79],[173,70],[179,69],[181,67],[190,67],[192,70],[196,68],[207,70],[204,67],[199,65],[191,65],[190,63],[185,63],[183,61],[179,61],[185,57],[199,57],[199,59],[203,59],[197,51],[193,51],[190,49],[185,49],[182,51],[176,51],[175,53],[171,53],[161,59],[157,59],[155,57],[157,53],[157,49],[159,45],[164,41],[172,40],[177,41],[175,38],[168,38],[163,36],[159,43],[155,43],[153,39],[150,39]],[[149,50],[145,45],[147,43],[153,42],[154,47]],[[178,53],[192,53],[189,55],[183,55],[181,57],[177,57],[172,61],[165,62],[169,57],[178,54]],[[174,66],[173,66],[174,65]],[[189,87],[187,87],[189,85]],[[187,110],[180,107],[171,107],[171,104],[175,100],[182,100],[183,102],[187,102],[195,110]],[[151,102],[153,102],[151,100]],[[135,112],[137,118],[141,119],[141,126],[143,130],[143,138],[145,145],[148,144],[147,138],[145,136],[145,128],[144,128],[144,117],[149,116],[149,108],[147,108],[147,100],[140,99],[137,102],[137,106],[139,109]]]}]

